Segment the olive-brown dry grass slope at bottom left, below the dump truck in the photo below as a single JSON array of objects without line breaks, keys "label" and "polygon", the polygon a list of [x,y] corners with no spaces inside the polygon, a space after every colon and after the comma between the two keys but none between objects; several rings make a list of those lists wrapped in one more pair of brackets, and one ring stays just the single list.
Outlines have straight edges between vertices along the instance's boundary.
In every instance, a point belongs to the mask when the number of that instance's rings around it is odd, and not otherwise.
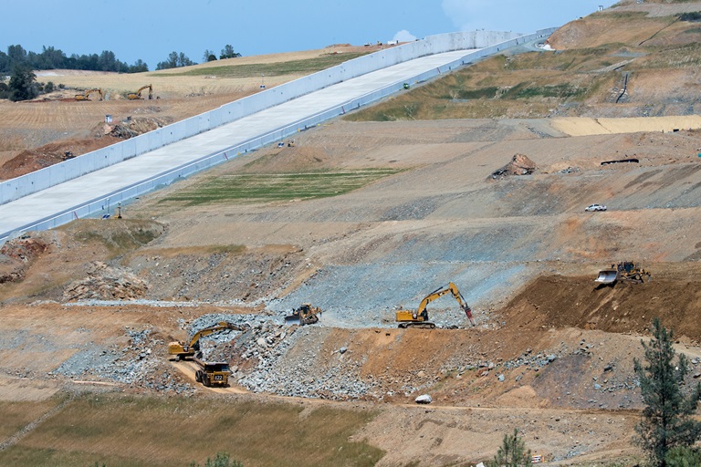
[{"label": "olive-brown dry grass slope at bottom left, below the dump truck", "polygon": [[371,466],[382,458],[367,442],[349,441],[370,411],[301,411],[288,403],[86,395],[0,451],[0,465],[187,467],[222,451],[263,467]]}]

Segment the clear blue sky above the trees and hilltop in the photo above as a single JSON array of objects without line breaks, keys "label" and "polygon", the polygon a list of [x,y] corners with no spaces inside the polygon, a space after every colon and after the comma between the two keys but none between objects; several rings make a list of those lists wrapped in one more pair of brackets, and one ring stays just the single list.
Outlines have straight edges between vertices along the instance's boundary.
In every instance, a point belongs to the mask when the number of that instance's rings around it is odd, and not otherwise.
[{"label": "clear blue sky above the trees and hilltop", "polygon": [[[123,62],[149,69],[173,51],[202,62],[230,44],[243,56],[309,50],[332,44],[360,46],[487,29],[533,32],[562,26],[608,7],[612,0],[65,0],[3,2],[0,50],[19,44],[67,55],[111,50]],[[48,2],[46,2],[48,4]],[[7,21],[6,18],[17,18]]]}]

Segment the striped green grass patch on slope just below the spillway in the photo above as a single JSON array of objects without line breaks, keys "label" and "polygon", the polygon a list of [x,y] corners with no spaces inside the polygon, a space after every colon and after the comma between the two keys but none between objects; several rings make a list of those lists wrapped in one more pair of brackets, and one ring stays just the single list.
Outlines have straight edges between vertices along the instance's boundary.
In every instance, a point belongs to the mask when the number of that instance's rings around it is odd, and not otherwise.
[{"label": "striped green grass patch on slope just below the spillway", "polygon": [[196,206],[217,202],[280,202],[338,196],[399,172],[394,169],[240,173],[211,177],[160,202]]}]

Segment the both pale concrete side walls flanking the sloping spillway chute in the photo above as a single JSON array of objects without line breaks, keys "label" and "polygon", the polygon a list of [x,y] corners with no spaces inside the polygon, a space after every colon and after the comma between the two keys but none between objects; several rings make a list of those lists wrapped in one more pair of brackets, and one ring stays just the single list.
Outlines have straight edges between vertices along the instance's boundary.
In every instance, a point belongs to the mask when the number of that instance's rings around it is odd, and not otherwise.
[{"label": "both pale concrete side walls flanking the sloping spillway chute", "polygon": [[[309,116],[307,119],[290,122],[287,126],[271,131],[267,134],[260,135],[254,139],[246,140],[235,146],[222,148],[214,153],[203,155],[196,161],[188,162],[180,167],[163,171],[162,174],[144,180],[140,183],[125,187],[122,190],[107,194],[100,194],[94,200],[75,206],[61,213],[56,213],[45,219],[41,219],[36,223],[27,224],[19,231],[0,233],[0,244],[3,244],[6,239],[16,235],[19,232],[30,230],[46,230],[64,223],[82,217],[99,216],[105,213],[114,213],[117,204],[122,205],[130,202],[141,194],[152,192],[170,183],[183,180],[198,171],[214,167],[217,164],[228,161],[237,154],[255,150],[267,144],[276,143],[277,141],[292,135],[300,130],[315,127],[320,123],[338,117],[351,109],[358,109],[361,106],[371,104],[372,102],[390,96],[403,89],[403,83],[409,82],[412,84],[421,83],[427,79],[434,78],[442,73],[448,72],[457,67],[462,67],[468,63],[474,62],[479,58],[488,57],[497,54],[508,47],[516,47],[525,42],[536,40],[538,38],[546,38],[552,32],[552,29],[545,29],[537,33],[527,36],[518,36],[509,38],[506,41],[482,48],[481,50],[466,51],[466,55],[452,63],[448,63],[443,67],[436,67],[430,71],[424,72],[413,78],[404,78],[401,81],[393,83],[390,86],[381,89],[375,89],[364,96],[357,99],[352,99],[344,102],[340,106],[332,109],[327,109],[319,112],[316,115]],[[465,47],[481,47],[485,46],[489,41],[503,38],[502,34],[510,33],[455,33],[450,35],[429,36],[423,41],[416,41],[411,44],[406,44],[400,47],[392,47],[391,49],[382,50],[371,54],[371,56],[359,57],[349,62],[341,64],[330,70],[320,71],[313,76],[300,78],[286,85],[271,88],[268,92],[264,91],[245,99],[240,99],[230,104],[226,104],[219,109],[214,109],[211,112],[206,112],[202,115],[186,119],[169,125],[159,130],[154,130],[144,135],[141,135],[131,140],[126,140],[119,144],[115,144],[103,150],[90,152],[76,159],[65,161],[56,164],[41,171],[36,171],[19,177],[0,185],[0,195],[2,202],[8,202],[17,199],[20,196],[25,196],[30,192],[37,192],[60,182],[65,182],[71,178],[78,177],[89,171],[95,171],[106,167],[112,163],[136,157],[138,154],[162,147],[165,144],[182,140],[189,136],[193,136],[205,130],[209,130],[218,125],[241,118],[249,113],[253,113],[260,109],[267,109],[272,105],[284,102],[288,99],[301,96],[307,92],[324,88],[330,84],[339,82],[340,77],[343,79],[350,78],[351,75],[359,76],[363,73],[401,63],[415,57],[422,57],[432,53],[441,53],[451,50],[462,50]],[[386,61],[385,61],[386,60]]]}]

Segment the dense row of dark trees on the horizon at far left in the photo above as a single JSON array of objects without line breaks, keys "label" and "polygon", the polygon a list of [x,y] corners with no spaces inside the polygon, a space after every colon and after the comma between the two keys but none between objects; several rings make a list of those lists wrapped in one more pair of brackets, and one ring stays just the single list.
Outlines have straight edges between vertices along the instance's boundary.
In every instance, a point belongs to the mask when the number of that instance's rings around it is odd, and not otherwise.
[{"label": "dense row of dark trees on the horizon at far left", "polygon": [[115,71],[117,73],[141,73],[149,71],[141,58],[128,65],[115,57],[114,52],[103,50],[90,55],[72,54],[55,47],[42,47],[40,53],[27,51],[20,45],[8,46],[7,52],[0,51],[0,73],[11,73],[15,67],[31,69],[80,69],[90,71]]}]

